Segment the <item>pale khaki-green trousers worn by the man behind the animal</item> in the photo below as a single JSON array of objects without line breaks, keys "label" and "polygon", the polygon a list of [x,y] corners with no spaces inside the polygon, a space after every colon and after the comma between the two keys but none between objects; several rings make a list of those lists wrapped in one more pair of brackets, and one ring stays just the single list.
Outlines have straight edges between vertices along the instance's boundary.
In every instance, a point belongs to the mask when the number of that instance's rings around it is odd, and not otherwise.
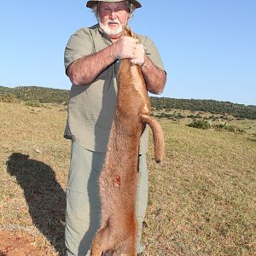
[{"label": "pale khaki-green trousers worn by the man behind the animal", "polygon": [[[101,226],[101,203],[98,180],[105,154],[82,148],[72,143],[67,183],[67,212],[65,243],[67,256],[89,256],[90,245]],[[148,204],[148,171],[146,155],[139,157],[137,186],[137,253],[143,252],[143,219]]]}]

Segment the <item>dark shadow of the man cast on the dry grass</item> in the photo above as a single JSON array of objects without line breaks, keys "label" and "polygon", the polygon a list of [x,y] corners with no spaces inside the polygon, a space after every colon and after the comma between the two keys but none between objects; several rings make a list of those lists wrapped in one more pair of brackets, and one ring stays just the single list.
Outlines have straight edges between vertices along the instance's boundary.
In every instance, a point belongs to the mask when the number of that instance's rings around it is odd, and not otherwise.
[{"label": "dark shadow of the man cast on the dry grass", "polygon": [[[24,190],[33,224],[64,255],[66,197],[55,179],[54,170],[26,154],[13,153],[7,161],[8,172]],[[0,254],[1,255],[1,254]]]}]

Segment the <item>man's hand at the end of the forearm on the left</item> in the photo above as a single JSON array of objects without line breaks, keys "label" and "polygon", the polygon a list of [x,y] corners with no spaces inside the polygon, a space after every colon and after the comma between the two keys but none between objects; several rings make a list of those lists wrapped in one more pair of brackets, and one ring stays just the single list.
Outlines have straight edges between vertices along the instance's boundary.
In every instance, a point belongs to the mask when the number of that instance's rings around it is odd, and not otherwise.
[{"label": "man's hand at the end of the forearm on the left", "polygon": [[138,39],[123,37],[112,44],[113,59],[132,59],[137,47]]}]

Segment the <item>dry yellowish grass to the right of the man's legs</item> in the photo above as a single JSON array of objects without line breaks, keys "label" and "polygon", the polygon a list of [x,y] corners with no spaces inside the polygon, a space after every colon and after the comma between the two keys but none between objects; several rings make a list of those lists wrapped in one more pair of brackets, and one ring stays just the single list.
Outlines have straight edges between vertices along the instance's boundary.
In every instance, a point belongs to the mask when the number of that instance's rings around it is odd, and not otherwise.
[{"label": "dry yellowish grass to the right of the man's legs", "polygon": [[170,121],[162,126],[166,160],[149,161],[148,255],[256,255],[255,142]]}]

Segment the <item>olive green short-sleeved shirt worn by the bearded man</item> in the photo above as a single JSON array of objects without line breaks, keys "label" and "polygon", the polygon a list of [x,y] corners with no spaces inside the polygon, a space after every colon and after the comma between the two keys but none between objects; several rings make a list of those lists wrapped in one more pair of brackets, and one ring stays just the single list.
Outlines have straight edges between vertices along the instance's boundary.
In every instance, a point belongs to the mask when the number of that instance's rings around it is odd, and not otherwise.
[{"label": "olive green short-sleeved shirt worn by the bearded man", "polygon": [[[164,70],[158,50],[147,37],[137,35],[146,48],[148,58],[156,67]],[[84,27],[75,32],[67,42],[65,68],[75,60],[92,55],[113,44],[100,26]],[[108,137],[115,113],[117,96],[116,77],[119,61],[114,61],[90,84],[73,84],[69,93],[68,116],[64,137],[73,139],[83,148],[106,152]],[[143,132],[140,154],[148,148],[148,129]]]}]

